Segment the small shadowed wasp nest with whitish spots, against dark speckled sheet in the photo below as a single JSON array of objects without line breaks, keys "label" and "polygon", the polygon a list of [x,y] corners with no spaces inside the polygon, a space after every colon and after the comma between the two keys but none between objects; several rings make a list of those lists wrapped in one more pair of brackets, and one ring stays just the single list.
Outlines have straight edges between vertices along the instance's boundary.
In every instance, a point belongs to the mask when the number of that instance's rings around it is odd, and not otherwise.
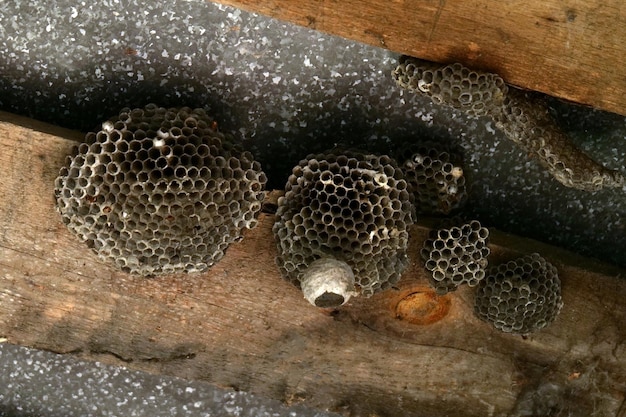
[{"label": "small shadowed wasp nest with whitish spots, against dark speckled sheet", "polygon": [[460,160],[446,151],[423,147],[402,164],[419,213],[449,214],[467,199]]}]

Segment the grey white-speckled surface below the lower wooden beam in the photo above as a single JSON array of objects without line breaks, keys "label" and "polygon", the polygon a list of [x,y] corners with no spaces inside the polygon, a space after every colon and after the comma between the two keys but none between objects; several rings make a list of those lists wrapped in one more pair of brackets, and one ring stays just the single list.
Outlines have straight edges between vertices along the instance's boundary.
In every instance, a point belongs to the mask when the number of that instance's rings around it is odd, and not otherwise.
[{"label": "grey white-speckled surface below the lower wooden beam", "polygon": [[0,345],[0,416],[333,417],[179,378]]}]

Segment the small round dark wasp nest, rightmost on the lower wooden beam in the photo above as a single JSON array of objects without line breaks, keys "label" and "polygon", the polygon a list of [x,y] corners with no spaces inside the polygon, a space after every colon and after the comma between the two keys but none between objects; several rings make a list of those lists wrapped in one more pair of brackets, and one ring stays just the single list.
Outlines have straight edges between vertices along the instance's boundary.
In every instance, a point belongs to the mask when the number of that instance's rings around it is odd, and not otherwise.
[{"label": "small round dark wasp nest, rightmost on the lower wooden beam", "polygon": [[476,292],[474,312],[507,333],[532,333],[561,311],[561,281],[556,268],[539,254],[490,268]]}]

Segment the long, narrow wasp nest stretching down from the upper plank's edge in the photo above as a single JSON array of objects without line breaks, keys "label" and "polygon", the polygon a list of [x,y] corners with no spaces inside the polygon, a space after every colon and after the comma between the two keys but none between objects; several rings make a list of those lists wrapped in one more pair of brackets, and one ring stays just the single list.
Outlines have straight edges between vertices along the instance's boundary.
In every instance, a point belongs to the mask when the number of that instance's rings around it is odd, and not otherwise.
[{"label": "long, narrow wasp nest stretching down from the upper plank's edge", "polygon": [[403,56],[392,75],[401,87],[436,103],[470,116],[490,116],[509,139],[536,156],[567,187],[596,191],[624,185],[621,173],[598,164],[568,140],[543,100],[509,88],[496,74]]}]

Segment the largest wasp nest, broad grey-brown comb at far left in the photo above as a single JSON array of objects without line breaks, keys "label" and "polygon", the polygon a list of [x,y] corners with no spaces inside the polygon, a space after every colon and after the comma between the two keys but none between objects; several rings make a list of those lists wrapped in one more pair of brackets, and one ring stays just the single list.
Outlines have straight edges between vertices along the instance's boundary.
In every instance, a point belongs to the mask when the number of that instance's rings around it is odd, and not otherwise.
[{"label": "largest wasp nest, broad grey-brown comb at far left", "polygon": [[123,109],[55,182],[63,222],[125,272],[202,271],[256,224],[265,174],[202,109]]}]

